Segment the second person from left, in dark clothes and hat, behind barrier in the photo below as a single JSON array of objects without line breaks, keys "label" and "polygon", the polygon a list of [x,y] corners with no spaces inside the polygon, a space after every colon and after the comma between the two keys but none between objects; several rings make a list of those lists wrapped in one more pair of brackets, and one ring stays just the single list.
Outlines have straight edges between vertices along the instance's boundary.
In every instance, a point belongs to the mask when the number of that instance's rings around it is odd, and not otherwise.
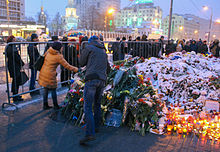
[{"label": "second person from left, in dark clothes and hat, behind barrier", "polygon": [[[37,34],[32,34],[31,35],[31,42],[38,42],[38,35]],[[37,70],[34,68],[34,63],[37,61],[37,59],[39,58],[40,54],[38,52],[38,48],[37,48],[37,43],[34,44],[29,44],[29,46],[27,47],[28,50],[28,56],[30,59],[29,62],[29,68],[31,69],[31,79],[30,79],[30,87],[29,90],[34,90],[35,89],[35,81],[36,81],[36,77],[37,77]],[[31,92],[31,95],[34,94],[38,94],[39,92]]]}]

